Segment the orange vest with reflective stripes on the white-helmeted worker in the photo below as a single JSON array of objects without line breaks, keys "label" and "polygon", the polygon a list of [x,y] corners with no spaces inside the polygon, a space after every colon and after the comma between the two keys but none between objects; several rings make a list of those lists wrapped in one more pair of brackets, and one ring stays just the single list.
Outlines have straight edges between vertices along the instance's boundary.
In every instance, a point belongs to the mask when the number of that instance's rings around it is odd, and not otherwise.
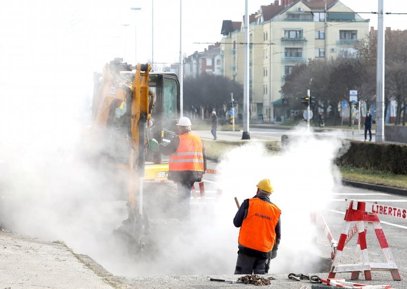
[{"label": "orange vest with reflective stripes on the white-helmeted worker", "polygon": [[169,170],[203,171],[202,140],[190,132],[179,135],[180,146],[169,156]]}]

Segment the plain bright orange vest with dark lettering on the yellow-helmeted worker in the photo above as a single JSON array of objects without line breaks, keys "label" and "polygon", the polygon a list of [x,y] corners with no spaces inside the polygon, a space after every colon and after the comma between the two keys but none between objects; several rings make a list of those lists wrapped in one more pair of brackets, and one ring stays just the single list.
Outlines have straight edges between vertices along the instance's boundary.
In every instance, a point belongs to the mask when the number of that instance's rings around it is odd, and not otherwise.
[{"label": "plain bright orange vest with dark lettering on the yellow-helmeted worker", "polygon": [[249,199],[247,217],[239,232],[239,244],[261,252],[270,252],[276,242],[275,227],[281,211],[259,198]]}]

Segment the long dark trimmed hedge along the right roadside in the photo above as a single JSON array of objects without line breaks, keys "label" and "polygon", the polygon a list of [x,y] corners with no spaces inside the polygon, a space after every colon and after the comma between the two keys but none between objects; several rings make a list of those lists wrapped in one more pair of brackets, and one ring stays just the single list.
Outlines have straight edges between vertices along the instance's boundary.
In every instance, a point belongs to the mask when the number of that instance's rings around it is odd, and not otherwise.
[{"label": "long dark trimmed hedge along the right roadside", "polygon": [[397,175],[407,175],[407,146],[350,141],[350,148],[335,162],[340,165],[376,168]]}]

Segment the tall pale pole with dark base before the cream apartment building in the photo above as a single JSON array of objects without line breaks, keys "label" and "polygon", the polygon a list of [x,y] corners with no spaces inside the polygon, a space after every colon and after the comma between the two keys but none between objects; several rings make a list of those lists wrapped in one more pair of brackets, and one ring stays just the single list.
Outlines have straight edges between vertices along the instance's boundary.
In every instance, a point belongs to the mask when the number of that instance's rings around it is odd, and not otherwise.
[{"label": "tall pale pole with dark base before the cream apartment building", "polygon": [[245,0],[245,80],[243,93],[243,135],[242,139],[250,139],[249,133],[249,13],[248,0]]}]

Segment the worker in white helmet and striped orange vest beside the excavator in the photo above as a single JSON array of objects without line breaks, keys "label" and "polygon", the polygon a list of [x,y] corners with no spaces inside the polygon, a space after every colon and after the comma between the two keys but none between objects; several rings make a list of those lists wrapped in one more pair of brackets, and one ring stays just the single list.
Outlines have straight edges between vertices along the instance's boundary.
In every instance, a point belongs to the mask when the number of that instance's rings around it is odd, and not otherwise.
[{"label": "worker in white helmet and striped orange vest beside the excavator", "polygon": [[[191,189],[195,182],[202,181],[207,169],[207,157],[202,139],[191,133],[191,121],[182,117],[178,121],[179,135],[172,137],[167,145],[158,145],[158,150],[169,155],[168,180],[176,181],[178,188],[179,214],[182,219],[189,219]],[[150,141],[152,149],[157,141]]]}]

